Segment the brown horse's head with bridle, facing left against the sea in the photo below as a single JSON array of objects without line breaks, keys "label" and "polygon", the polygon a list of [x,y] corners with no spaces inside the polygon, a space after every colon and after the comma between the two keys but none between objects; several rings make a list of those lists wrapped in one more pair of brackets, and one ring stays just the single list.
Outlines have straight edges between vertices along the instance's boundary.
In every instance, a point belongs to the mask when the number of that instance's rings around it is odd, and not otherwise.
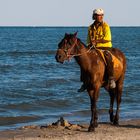
[{"label": "brown horse's head with bridle, facing left against the sea", "polygon": [[74,34],[65,33],[64,38],[58,44],[56,52],[56,61],[63,63],[65,60],[69,60],[75,52],[75,46],[77,45],[77,32]]}]

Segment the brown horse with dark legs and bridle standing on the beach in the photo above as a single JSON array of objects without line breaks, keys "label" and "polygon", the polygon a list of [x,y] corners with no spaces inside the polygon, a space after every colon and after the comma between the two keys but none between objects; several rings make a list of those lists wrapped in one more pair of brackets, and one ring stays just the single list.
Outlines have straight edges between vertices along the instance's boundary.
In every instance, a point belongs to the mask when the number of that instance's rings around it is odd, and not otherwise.
[{"label": "brown horse with dark legs and bridle standing on the beach", "polygon": [[[112,54],[120,61],[121,65],[114,67],[114,78],[116,88],[110,89],[107,82],[106,64],[97,49],[87,48],[79,38],[77,33],[65,34],[64,38],[58,44],[56,52],[57,62],[63,63],[72,57],[75,58],[81,69],[81,80],[87,85],[87,92],[91,100],[91,121],[88,131],[94,131],[97,123],[96,103],[99,96],[99,90],[104,87],[110,95],[110,121],[114,125],[119,124],[119,108],[121,103],[123,81],[126,70],[126,59],[124,54],[116,48],[112,48]],[[113,115],[113,104],[116,99],[116,114]]]}]

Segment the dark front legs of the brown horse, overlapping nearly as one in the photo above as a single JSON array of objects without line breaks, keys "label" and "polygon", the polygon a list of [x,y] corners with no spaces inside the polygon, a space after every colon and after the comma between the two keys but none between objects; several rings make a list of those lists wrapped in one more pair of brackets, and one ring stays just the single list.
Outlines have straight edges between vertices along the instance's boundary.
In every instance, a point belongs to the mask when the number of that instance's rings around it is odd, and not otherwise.
[{"label": "dark front legs of the brown horse, overlapping nearly as one", "polygon": [[88,91],[89,96],[90,96],[90,101],[91,101],[91,121],[90,121],[90,126],[88,128],[88,131],[94,131],[95,127],[98,126],[97,120],[98,120],[98,115],[97,115],[97,109],[96,109],[96,103],[98,99],[98,94],[99,94],[99,89],[95,90],[90,90]]}]

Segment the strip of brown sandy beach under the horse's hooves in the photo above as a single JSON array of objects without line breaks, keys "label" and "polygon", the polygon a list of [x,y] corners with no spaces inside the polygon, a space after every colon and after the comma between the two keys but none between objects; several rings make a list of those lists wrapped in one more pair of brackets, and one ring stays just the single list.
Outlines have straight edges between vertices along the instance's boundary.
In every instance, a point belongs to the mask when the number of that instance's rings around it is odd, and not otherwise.
[{"label": "strip of brown sandy beach under the horse's hooves", "polygon": [[[57,124],[56,124],[57,123]],[[118,127],[99,122],[95,132],[87,132],[88,124],[55,122],[46,126],[24,126],[0,132],[0,140],[139,140],[140,120],[120,122]]]}]

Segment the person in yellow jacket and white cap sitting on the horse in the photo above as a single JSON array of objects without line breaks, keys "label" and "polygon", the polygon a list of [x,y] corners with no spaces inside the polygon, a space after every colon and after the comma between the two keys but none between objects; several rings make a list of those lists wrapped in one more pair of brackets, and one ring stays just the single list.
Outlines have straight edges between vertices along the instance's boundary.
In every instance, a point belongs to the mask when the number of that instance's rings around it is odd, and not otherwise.
[{"label": "person in yellow jacket and white cap sitting on the horse", "polygon": [[[109,50],[112,48],[111,31],[109,25],[103,21],[103,17],[103,9],[99,8],[93,10],[92,19],[94,22],[88,27],[87,46],[94,46],[97,49],[105,50],[104,56],[107,63],[108,84],[110,88],[115,88],[116,83],[113,77],[112,56],[109,53]],[[83,92],[85,89],[86,86],[83,84],[78,92]]]}]

